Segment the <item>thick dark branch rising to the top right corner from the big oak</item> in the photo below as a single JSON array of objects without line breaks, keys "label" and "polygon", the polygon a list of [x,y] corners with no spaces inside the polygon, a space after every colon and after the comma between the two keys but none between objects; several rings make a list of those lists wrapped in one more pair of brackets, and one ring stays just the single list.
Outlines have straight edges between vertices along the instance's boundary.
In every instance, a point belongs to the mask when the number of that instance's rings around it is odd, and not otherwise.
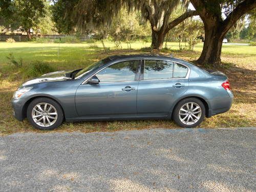
[{"label": "thick dark branch rising to the top right corner from the big oak", "polygon": [[244,2],[240,3],[223,21],[223,26],[226,26],[226,30],[228,31],[236,22],[237,20],[243,16],[245,13],[249,12],[250,10],[256,7],[255,0],[245,0]]}]

